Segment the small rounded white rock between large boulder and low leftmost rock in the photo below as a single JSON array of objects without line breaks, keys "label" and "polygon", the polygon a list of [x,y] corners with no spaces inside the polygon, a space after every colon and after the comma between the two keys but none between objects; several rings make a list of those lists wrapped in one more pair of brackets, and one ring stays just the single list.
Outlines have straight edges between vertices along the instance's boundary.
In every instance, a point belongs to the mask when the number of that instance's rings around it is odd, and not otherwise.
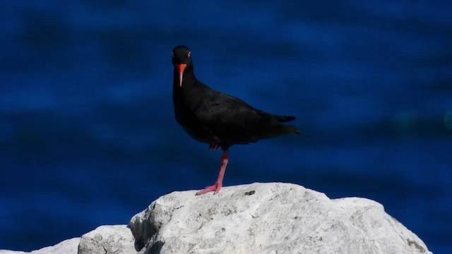
[{"label": "small rounded white rock between large boulder and low leftmost rock", "polygon": [[136,254],[135,239],[125,225],[99,226],[84,234],[78,245],[78,254]]}]

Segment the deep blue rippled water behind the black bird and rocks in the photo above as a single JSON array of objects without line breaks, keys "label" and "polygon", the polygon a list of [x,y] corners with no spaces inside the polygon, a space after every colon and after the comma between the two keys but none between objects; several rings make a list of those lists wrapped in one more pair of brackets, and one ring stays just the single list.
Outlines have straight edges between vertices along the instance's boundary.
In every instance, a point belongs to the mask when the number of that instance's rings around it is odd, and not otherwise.
[{"label": "deep blue rippled water behind the black bird and rocks", "polygon": [[301,136],[235,146],[225,186],[358,196],[452,253],[451,1],[2,1],[0,249],[126,224],[215,181],[172,112],[171,50]]}]

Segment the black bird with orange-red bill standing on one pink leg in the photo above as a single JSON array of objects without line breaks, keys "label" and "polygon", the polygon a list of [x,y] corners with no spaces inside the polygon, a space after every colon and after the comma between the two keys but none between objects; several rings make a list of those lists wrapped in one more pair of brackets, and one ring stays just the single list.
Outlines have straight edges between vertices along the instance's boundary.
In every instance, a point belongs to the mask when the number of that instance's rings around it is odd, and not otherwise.
[{"label": "black bird with orange-red bill standing on one pink leg", "polygon": [[282,123],[295,116],[277,116],[251,107],[246,102],[210,89],[197,80],[190,49],[179,45],[172,50],[174,80],[172,102],[177,123],[194,139],[222,149],[218,179],[196,195],[220,191],[227,166],[227,150],[232,145],[256,143],[262,138],[299,134],[294,126]]}]

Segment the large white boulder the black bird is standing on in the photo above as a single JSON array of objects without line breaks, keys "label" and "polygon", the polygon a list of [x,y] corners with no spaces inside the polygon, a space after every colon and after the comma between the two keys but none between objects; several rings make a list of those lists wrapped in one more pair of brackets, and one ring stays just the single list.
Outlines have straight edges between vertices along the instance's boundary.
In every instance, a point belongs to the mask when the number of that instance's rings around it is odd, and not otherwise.
[{"label": "large white boulder the black bird is standing on", "polygon": [[129,227],[140,253],[431,253],[365,198],[331,200],[290,183],[164,195]]}]

